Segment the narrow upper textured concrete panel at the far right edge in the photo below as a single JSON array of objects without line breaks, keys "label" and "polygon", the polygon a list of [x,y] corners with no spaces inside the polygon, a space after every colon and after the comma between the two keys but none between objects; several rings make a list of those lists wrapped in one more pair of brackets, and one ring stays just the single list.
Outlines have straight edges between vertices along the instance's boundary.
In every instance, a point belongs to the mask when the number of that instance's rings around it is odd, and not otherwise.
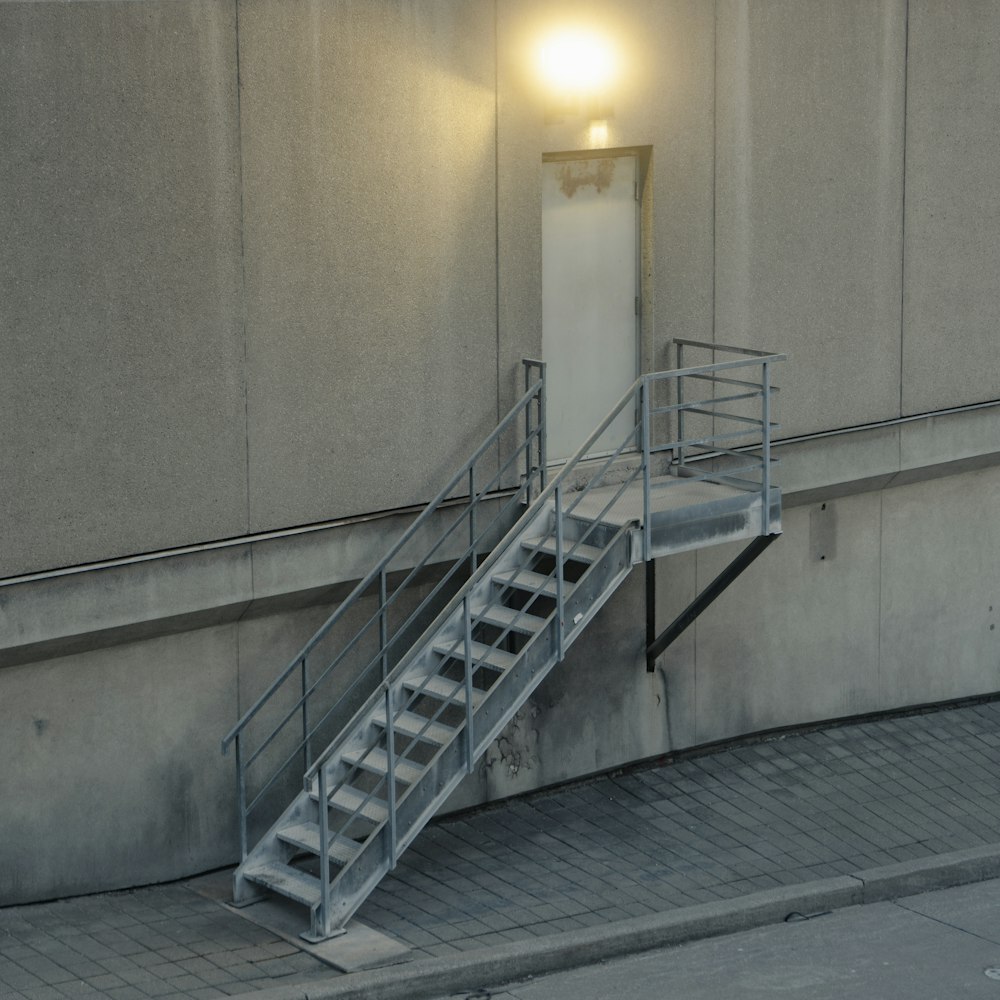
[{"label": "narrow upper textured concrete panel at the far right edge", "polygon": [[1000,7],[911,0],[903,411],[1000,397]]}]

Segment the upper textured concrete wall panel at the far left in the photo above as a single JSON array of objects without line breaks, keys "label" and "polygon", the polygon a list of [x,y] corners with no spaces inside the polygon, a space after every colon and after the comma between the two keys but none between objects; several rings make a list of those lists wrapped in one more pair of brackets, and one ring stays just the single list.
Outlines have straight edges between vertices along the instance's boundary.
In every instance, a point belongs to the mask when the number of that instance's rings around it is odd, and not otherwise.
[{"label": "upper textured concrete wall panel at the far left", "polygon": [[246,530],[232,4],[0,4],[0,576]]}]

